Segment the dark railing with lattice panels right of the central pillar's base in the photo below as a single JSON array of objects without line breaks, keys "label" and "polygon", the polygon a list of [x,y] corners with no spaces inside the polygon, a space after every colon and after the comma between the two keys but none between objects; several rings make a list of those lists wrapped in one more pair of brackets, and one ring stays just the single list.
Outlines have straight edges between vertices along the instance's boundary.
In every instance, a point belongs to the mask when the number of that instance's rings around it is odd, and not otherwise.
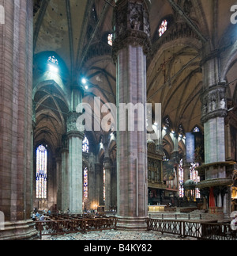
[{"label": "dark railing with lattice panels right of the central pillar's base", "polygon": [[148,220],[148,229],[162,234],[179,235],[201,240],[237,240],[237,232],[230,224],[213,224],[185,220]]}]

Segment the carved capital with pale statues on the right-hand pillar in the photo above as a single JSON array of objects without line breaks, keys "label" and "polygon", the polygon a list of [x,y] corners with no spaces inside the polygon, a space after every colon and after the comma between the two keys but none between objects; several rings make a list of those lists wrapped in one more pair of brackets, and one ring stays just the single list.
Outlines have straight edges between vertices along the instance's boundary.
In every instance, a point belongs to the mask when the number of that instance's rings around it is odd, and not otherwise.
[{"label": "carved capital with pale statues on the right-hand pillar", "polygon": [[215,117],[226,117],[228,110],[226,86],[224,84],[218,84],[203,91],[201,94],[201,105],[202,124]]}]

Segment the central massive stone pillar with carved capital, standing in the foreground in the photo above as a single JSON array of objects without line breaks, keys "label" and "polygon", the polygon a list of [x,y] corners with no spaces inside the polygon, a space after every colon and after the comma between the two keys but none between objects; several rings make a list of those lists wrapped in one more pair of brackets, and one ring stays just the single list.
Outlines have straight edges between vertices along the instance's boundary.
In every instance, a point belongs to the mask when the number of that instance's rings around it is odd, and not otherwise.
[{"label": "central massive stone pillar with carved capital, standing in the foreground", "polygon": [[[146,54],[149,52],[149,1],[116,1],[113,55],[117,68],[118,228],[146,229],[147,137]],[[120,113],[120,104],[142,105],[134,120]],[[142,122],[143,121],[143,122]],[[122,130],[122,124],[126,128]],[[128,128],[131,124],[133,128]],[[139,127],[138,127],[139,126]]]}]

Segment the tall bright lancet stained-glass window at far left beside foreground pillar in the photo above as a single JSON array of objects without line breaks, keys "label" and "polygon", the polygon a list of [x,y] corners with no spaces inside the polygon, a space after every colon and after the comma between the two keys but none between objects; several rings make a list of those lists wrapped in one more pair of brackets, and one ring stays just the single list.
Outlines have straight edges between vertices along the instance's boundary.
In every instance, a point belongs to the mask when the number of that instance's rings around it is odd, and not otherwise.
[{"label": "tall bright lancet stained-glass window at far left beside foreground pillar", "polygon": [[47,199],[47,149],[43,145],[36,150],[36,198]]}]

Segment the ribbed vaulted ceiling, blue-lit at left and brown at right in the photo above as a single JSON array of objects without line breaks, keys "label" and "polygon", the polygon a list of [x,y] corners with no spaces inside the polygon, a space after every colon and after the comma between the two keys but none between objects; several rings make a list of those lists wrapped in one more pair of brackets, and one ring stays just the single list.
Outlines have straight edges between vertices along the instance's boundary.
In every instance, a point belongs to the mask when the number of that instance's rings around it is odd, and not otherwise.
[{"label": "ribbed vaulted ceiling, blue-lit at left and brown at right", "polygon": [[[179,12],[174,4],[183,10]],[[217,48],[230,25],[233,0],[152,0],[150,10],[152,52],[147,58],[147,96],[162,103],[162,116],[172,128],[182,124],[185,132],[201,127],[202,46],[209,41]],[[66,113],[70,105],[69,88],[85,76],[91,83],[84,101],[93,98],[115,103],[116,70],[111,59],[107,35],[113,32],[114,0],[35,0],[34,6],[34,101],[36,102],[36,141],[60,145],[66,132]],[[158,35],[161,21],[168,29]],[[43,61],[54,54],[62,71],[52,78]],[[235,66],[227,74],[235,80]],[[236,97],[235,83],[229,88]],[[99,142],[100,132],[92,140]]]}]

